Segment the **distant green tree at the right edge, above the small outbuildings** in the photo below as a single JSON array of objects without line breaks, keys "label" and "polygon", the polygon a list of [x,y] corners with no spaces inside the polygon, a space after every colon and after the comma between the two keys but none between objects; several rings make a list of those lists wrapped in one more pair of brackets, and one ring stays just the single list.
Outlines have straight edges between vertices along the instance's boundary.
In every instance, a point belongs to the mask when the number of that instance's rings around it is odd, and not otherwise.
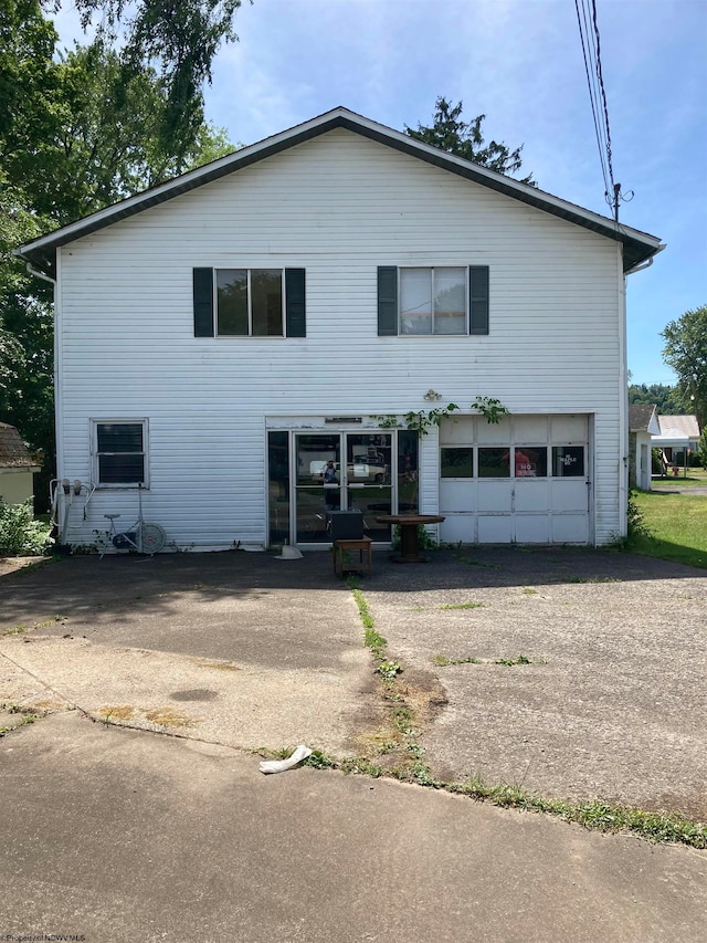
[{"label": "distant green tree at the right edge, above the small outbuildings", "polygon": [[685,409],[707,422],[707,305],[686,311],[662,332],[663,359],[677,374],[678,396]]}]

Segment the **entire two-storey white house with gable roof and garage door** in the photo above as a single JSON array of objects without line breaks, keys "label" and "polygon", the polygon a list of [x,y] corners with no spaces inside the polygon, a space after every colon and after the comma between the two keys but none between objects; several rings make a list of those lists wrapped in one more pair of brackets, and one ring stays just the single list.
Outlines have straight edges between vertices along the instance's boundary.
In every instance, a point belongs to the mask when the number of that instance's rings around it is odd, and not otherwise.
[{"label": "entire two-storey white house with gable roof and garage door", "polygon": [[86,485],[66,541],[131,523],[144,482],[146,518],[196,549],[326,546],[333,504],[381,543],[391,510],[443,514],[447,542],[606,543],[624,275],[661,248],[345,108],[36,239],[59,475]]}]

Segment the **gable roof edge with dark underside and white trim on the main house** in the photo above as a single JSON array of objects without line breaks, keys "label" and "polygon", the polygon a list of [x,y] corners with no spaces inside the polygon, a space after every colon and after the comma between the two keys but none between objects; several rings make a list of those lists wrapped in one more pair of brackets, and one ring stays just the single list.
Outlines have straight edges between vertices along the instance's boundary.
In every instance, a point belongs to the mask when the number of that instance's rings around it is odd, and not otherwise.
[{"label": "gable roof edge with dark underside and white trim on the main house", "polygon": [[441,167],[451,174],[456,174],[467,180],[473,180],[475,184],[481,184],[507,197],[528,203],[544,212],[581,226],[608,239],[621,242],[623,243],[624,272],[630,272],[665,248],[655,235],[621,226],[612,219],[599,216],[574,203],[569,203],[566,200],[553,197],[551,193],[539,190],[537,187],[520,184],[518,180],[506,177],[504,174],[497,174],[495,170],[473,164],[471,160],[464,160],[436,147],[431,147],[428,144],[415,140],[408,134],[372,122],[362,115],[357,115],[355,112],[348,111],[348,108],[339,107],[249,147],[244,147],[241,150],[236,150],[233,154],[229,154],[226,157],[213,160],[211,164],[207,164],[196,170],[190,170],[188,174],[182,174],[167,184],[160,184],[134,197],[128,197],[119,203],[91,213],[91,216],[84,217],[76,222],[64,226],[32,242],[28,242],[25,245],[17,249],[14,254],[28,260],[44,274],[55,277],[55,252],[60,245],[65,245],[91,232],[96,232],[158,203],[179,197],[197,187],[202,187],[204,184],[218,180],[220,177],[236,174],[244,167],[250,167],[260,160],[287,150],[306,140],[312,140],[336,128],[345,128],[354,134],[359,134],[370,140],[392,147],[402,154],[416,157],[435,167]]}]

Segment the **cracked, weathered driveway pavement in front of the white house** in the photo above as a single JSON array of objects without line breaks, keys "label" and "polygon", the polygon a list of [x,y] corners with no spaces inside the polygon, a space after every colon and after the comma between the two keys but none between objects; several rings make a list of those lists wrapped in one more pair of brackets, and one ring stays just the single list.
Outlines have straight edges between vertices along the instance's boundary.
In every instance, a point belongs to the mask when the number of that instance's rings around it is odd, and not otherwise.
[{"label": "cracked, weathered driveway pavement in front of the white house", "polygon": [[[50,712],[0,740],[0,932],[699,939],[705,852],[390,780],[257,773],[250,750],[360,755],[384,725],[330,566],[74,557],[0,577],[0,702]],[[706,817],[707,574],[488,548],[378,554],[360,584],[434,775]]]}]

